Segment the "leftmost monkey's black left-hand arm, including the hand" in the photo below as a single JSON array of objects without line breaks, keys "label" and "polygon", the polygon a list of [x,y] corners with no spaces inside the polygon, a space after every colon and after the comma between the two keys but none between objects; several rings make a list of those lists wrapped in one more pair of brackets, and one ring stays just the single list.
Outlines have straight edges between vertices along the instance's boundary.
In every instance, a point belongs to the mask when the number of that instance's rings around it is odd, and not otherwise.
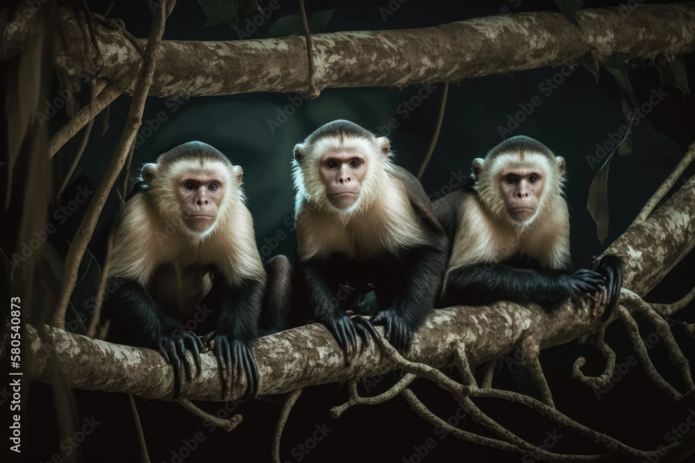
[{"label": "leftmost monkey's black left-hand arm, including the hand", "polygon": [[147,289],[135,280],[111,278],[112,287],[117,287],[109,298],[113,307],[111,314],[133,335],[136,346],[147,347],[161,353],[174,367],[174,398],[181,391],[181,362],[190,381],[191,365],[186,355],[186,346],[193,353],[195,367],[200,374],[199,339],[192,332],[172,327],[161,309],[149,295]]}]

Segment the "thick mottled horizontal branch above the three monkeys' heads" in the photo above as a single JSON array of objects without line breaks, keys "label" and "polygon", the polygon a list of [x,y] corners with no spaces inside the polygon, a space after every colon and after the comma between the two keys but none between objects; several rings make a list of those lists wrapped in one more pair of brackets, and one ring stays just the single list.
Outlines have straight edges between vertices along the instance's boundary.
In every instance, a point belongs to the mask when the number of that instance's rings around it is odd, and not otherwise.
[{"label": "thick mottled horizontal branch above the three monkeys' heads", "polygon": [[[553,12],[468,19],[420,29],[352,31],[311,36],[317,90],[327,87],[402,87],[558,66],[591,56],[671,60],[695,51],[695,7],[686,3],[580,10],[581,28]],[[133,44],[117,28],[95,24],[101,57],[74,18],[67,17],[68,48],[58,65],[71,74],[99,76],[126,94],[136,85],[145,39]],[[17,21],[15,19],[15,21]],[[28,31],[10,23],[0,36],[0,60],[19,50]],[[247,92],[307,92],[304,37],[227,42],[162,43],[152,96]]]}]

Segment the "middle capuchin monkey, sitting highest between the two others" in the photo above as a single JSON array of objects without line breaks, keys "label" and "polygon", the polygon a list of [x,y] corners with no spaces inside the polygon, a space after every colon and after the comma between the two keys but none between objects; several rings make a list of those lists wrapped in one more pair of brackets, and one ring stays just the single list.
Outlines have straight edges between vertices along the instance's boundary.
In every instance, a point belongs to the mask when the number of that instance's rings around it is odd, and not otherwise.
[{"label": "middle capuchin monkey, sitting highest between the two others", "polygon": [[448,239],[423,187],[393,164],[388,138],[345,120],[295,146],[293,177],[293,304],[325,323],[346,364],[357,355],[357,336],[363,344],[379,337],[372,323],[406,353],[447,260]]}]

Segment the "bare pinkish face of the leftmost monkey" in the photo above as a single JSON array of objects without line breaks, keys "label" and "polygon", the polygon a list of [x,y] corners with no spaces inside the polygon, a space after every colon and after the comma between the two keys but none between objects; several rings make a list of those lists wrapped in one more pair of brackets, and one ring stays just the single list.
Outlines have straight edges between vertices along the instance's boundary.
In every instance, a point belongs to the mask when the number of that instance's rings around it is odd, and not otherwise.
[{"label": "bare pinkish face of the leftmost monkey", "polygon": [[214,172],[199,170],[174,182],[183,224],[193,233],[205,233],[215,224],[224,197],[222,179]]}]

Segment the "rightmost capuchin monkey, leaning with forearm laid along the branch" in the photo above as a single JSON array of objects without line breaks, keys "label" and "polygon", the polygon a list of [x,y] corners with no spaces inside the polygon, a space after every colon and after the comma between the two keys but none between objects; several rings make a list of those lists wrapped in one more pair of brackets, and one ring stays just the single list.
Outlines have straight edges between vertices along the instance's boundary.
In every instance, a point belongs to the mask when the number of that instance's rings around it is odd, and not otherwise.
[{"label": "rightmost capuchin monkey, leaning with forearm laid along the branch", "polygon": [[504,299],[552,310],[586,294],[594,318],[610,317],[621,262],[606,255],[572,271],[564,169],[564,158],[519,135],[473,160],[472,185],[433,203],[452,242],[442,306]]}]

